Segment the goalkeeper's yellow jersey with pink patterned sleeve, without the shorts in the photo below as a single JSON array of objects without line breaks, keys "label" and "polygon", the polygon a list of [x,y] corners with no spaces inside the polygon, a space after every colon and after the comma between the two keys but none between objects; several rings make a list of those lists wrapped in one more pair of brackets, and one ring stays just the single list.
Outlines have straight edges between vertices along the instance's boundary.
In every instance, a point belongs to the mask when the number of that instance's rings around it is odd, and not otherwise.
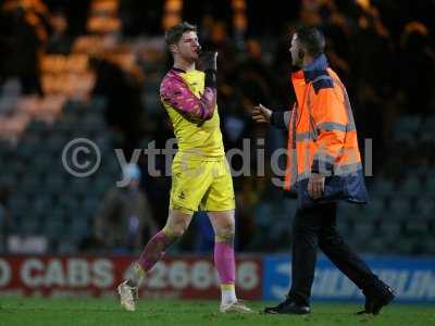
[{"label": "goalkeeper's yellow jersey with pink patterned sleeve, without the shorts", "polygon": [[[160,87],[178,142],[178,155],[221,159],[225,155],[215,88],[204,87],[204,73],[172,68]],[[213,98],[214,97],[214,98]]]}]

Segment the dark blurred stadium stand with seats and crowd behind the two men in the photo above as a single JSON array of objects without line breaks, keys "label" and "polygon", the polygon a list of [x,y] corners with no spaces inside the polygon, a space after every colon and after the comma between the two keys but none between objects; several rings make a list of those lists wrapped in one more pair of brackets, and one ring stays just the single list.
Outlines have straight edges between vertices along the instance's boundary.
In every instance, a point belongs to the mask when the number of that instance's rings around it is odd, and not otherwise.
[{"label": "dark blurred stadium stand with seats and crowd behind the two men", "polygon": [[[51,253],[104,251],[94,229],[104,193],[120,179],[113,149],[129,155],[173,137],[158,97],[171,66],[162,36],[185,20],[198,25],[204,48],[220,51],[226,150],[251,139],[257,171],[254,140],[265,139],[266,175],[234,179],[239,251],[287,251],[291,242],[295,201],[272,185],[269,167],[286,135],[254,125],[250,109],[293,103],[289,40],[296,26],[311,24],[325,33],[331,66],[347,86],[363,155],[364,139],[373,145],[372,202],[343,204],[340,231],[365,253],[435,254],[435,2],[287,2],[0,1],[0,252],[13,252],[11,237],[44,239]],[[61,162],[77,137],[102,151],[101,167],[87,178]],[[164,168],[164,159],[157,164]],[[145,155],[139,165],[162,226],[171,178],[150,176]],[[174,250],[210,250],[204,218]]]}]

